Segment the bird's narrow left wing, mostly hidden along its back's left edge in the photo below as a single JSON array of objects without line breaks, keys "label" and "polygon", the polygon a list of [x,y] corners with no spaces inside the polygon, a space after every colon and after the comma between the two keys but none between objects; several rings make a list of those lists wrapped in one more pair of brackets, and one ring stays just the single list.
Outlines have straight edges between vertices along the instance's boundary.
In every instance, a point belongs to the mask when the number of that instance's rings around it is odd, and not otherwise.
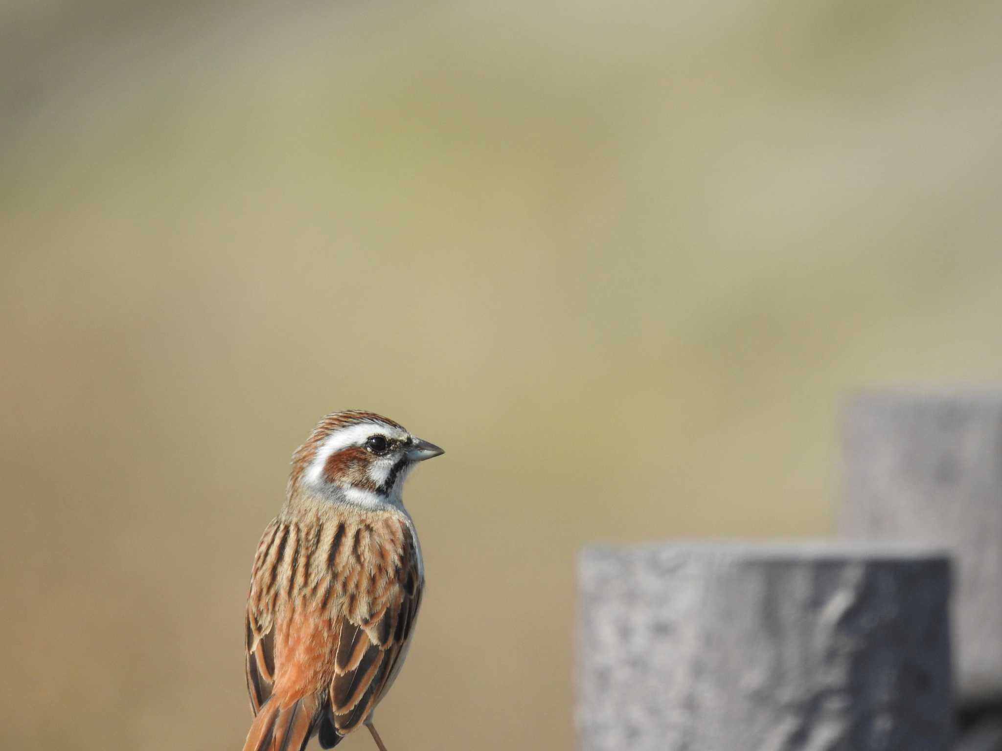
[{"label": "bird's narrow left wing, mostly hidden along its back's left edge", "polygon": [[[247,597],[246,613],[246,675],[247,693],[250,694],[250,709],[257,716],[262,705],[272,695],[275,684],[275,621],[273,610],[275,599],[261,597],[263,579],[267,579],[266,561],[276,546],[285,547],[288,542],[289,530],[275,520],[265,529],[265,534],[258,545],[255,556],[254,570],[250,574],[250,593]],[[281,561],[283,553],[280,550],[276,561]],[[266,575],[266,576],[263,576]],[[256,593],[259,596],[256,597]]]}]

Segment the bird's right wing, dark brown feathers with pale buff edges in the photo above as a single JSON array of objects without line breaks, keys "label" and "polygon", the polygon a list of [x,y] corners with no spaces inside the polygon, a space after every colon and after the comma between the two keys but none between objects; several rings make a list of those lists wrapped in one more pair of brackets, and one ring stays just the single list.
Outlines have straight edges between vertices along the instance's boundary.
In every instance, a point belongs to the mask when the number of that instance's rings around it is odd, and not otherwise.
[{"label": "bird's right wing, dark brown feathers with pale buff edges", "polygon": [[[337,645],[331,711],[334,728],[345,735],[364,722],[399,671],[421,605],[422,581],[417,544],[400,526],[396,555],[375,569],[361,566],[343,574],[348,580],[334,629]],[[358,538],[356,538],[356,541]],[[349,568],[352,568],[350,565]],[[368,607],[367,607],[368,602]]]}]

